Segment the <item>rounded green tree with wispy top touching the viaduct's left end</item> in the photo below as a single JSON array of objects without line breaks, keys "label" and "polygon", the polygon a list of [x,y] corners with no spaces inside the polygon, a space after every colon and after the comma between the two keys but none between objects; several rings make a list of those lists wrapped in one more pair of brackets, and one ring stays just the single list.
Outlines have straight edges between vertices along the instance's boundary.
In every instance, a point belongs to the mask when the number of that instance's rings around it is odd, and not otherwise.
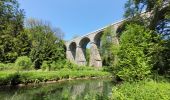
[{"label": "rounded green tree with wispy top touching the viaduct's left end", "polygon": [[27,33],[31,39],[30,58],[39,69],[43,61],[65,59],[64,41],[55,36],[48,22],[30,19],[27,21]]}]

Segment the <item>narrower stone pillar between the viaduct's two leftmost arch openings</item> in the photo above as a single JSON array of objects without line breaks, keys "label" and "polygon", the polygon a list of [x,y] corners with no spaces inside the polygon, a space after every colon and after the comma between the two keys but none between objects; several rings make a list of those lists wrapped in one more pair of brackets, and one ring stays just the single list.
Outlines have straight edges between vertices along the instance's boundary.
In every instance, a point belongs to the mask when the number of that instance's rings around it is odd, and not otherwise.
[{"label": "narrower stone pillar between the viaduct's two leftmost arch openings", "polygon": [[81,66],[86,65],[86,58],[83,49],[80,46],[76,48],[76,63]]}]

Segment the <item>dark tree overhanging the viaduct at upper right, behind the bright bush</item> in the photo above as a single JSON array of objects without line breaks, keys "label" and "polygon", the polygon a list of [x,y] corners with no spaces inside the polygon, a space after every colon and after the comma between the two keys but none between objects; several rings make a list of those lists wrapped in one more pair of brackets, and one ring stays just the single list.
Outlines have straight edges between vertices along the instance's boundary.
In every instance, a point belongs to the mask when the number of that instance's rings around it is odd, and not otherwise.
[{"label": "dark tree overhanging the viaduct at upper right, behind the bright bush", "polygon": [[[142,13],[145,11],[145,13]],[[149,15],[149,16],[148,16]],[[125,18],[127,21],[119,30],[125,30],[128,24],[136,23],[160,34],[158,39],[161,49],[157,49],[152,61],[153,70],[159,74],[170,70],[170,1],[169,0],[128,0],[125,4]]]}]

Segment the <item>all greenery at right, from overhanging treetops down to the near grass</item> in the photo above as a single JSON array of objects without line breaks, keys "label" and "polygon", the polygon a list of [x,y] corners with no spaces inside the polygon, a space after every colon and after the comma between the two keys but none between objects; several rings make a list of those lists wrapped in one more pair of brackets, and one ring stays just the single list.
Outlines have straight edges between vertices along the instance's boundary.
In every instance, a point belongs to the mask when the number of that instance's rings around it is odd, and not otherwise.
[{"label": "all greenery at right, from overhanging treetops down to the near grass", "polygon": [[170,100],[167,3],[168,0],[128,0],[125,4],[124,16],[128,19],[118,28],[118,63],[113,71],[117,81],[123,82],[113,87],[113,100]]}]

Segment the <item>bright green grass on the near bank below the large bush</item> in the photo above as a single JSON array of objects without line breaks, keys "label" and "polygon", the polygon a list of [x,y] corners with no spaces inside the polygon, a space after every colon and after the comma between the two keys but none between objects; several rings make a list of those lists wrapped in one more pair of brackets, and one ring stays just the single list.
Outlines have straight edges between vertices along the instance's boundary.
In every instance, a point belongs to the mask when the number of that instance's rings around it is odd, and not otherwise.
[{"label": "bright green grass on the near bank below the large bush", "polygon": [[170,83],[140,81],[125,82],[113,87],[113,100],[170,100]]}]

